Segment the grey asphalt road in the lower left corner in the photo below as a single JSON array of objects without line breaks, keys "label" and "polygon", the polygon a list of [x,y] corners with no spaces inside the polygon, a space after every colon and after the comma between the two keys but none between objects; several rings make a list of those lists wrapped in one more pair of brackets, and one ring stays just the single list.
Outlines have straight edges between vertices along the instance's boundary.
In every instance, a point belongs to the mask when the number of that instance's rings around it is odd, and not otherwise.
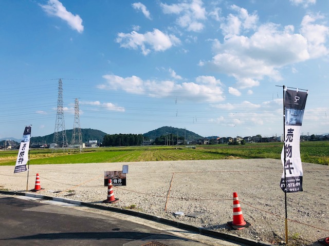
[{"label": "grey asphalt road in the lower left corner", "polygon": [[0,245],[224,245],[216,239],[196,242],[170,230],[120,219],[116,213],[77,207],[0,195]]}]

